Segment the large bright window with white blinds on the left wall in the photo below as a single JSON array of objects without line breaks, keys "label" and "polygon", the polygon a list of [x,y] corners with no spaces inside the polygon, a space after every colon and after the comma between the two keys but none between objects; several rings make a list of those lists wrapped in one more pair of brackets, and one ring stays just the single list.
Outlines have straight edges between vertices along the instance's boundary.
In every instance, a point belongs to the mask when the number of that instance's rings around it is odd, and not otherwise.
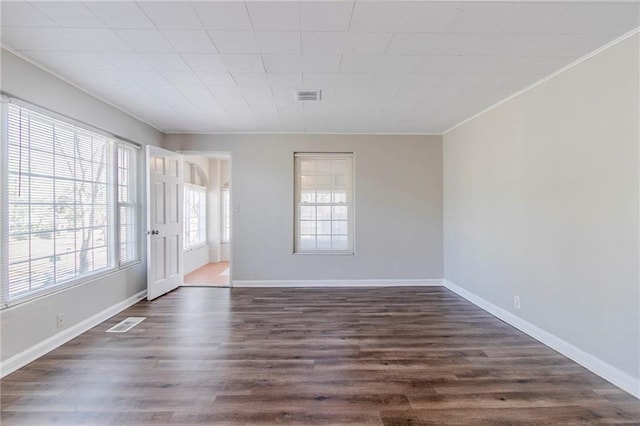
[{"label": "large bright window with white blinds on the left wall", "polygon": [[3,114],[4,303],[138,260],[136,150],[30,107]]}]

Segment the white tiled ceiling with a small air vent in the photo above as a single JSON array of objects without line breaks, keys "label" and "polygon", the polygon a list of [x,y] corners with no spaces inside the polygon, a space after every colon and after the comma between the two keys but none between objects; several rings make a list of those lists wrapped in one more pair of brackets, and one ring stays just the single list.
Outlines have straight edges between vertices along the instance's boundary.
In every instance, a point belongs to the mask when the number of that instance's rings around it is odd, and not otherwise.
[{"label": "white tiled ceiling with a small air vent", "polygon": [[165,132],[441,133],[640,25],[613,1],[1,8],[5,47]]}]

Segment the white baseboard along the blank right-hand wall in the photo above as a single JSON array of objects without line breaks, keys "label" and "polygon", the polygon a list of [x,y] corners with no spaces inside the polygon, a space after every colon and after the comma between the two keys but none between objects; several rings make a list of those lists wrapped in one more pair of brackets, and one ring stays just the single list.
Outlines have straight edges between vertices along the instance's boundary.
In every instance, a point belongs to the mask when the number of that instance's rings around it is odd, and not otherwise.
[{"label": "white baseboard along the blank right-hand wall", "polygon": [[486,301],[480,296],[477,296],[476,294],[465,290],[464,288],[452,283],[451,281],[443,280],[443,283],[446,288],[453,291],[457,295],[467,299],[477,307],[484,309],[491,315],[501,319],[502,321],[517,328],[523,333],[528,334],[529,336],[538,340],[540,343],[549,346],[551,349],[560,352],[562,355],[577,362],[589,371],[597,374],[598,376],[602,377],[608,382],[611,382],[620,389],[640,399],[639,379],[636,379],[635,377],[625,373],[624,371],[614,367],[613,365],[583,351],[582,349],[573,346],[571,343],[562,340],[556,335],[551,334],[548,331],[545,331],[531,324],[530,322],[523,320],[522,318],[514,315],[506,309],[503,309],[491,302]]}]

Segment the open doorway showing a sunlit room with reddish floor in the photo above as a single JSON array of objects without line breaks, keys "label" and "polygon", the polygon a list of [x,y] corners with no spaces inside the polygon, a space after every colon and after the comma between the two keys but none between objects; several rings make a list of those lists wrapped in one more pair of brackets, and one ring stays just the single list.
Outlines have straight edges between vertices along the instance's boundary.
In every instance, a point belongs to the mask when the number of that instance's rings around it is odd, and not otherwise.
[{"label": "open doorway showing a sunlit room with reddish floor", "polygon": [[231,284],[231,155],[182,152],[183,286]]}]

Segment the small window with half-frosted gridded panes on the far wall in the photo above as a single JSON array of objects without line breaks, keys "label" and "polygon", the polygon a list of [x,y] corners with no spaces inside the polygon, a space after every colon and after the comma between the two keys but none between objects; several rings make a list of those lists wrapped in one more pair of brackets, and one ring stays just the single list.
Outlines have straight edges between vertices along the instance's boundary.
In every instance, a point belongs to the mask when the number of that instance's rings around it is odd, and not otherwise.
[{"label": "small window with half-frosted gridded panes on the far wall", "polygon": [[353,154],[295,154],[295,253],[353,253]]}]

